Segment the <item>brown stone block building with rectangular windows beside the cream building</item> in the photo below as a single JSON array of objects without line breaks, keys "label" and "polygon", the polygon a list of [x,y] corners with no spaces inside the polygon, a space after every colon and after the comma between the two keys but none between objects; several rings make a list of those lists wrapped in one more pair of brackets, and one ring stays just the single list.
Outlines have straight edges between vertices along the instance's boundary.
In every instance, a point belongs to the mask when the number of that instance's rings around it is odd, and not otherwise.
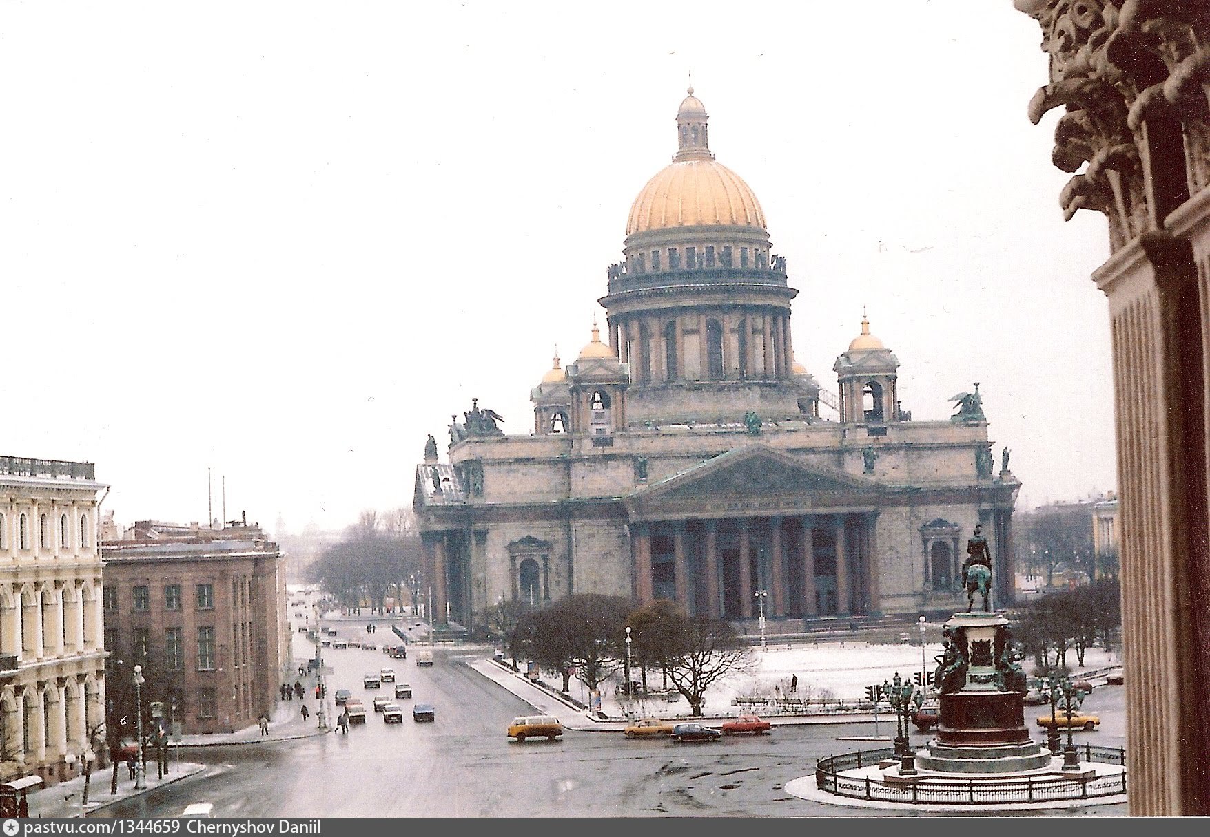
[{"label": "brown stone block building with rectangular windows beside the cream building", "polygon": [[134,716],[133,666],[151,702],[190,733],[271,714],[293,682],[283,556],[255,524],[136,523],[102,544],[105,648],[115,716]]}]

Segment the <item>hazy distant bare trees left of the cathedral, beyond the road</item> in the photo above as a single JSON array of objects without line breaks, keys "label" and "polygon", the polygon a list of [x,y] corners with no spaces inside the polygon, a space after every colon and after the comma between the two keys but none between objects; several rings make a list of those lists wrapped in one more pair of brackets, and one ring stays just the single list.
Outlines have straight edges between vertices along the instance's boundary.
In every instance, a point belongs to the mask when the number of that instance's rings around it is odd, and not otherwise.
[{"label": "hazy distant bare trees left of the cathedral, beyond the road", "polygon": [[388,596],[398,605],[411,579],[420,577],[421,556],[410,509],[362,512],[345,537],[307,567],[307,581],[321,584],[342,607],[369,601],[382,612]]}]

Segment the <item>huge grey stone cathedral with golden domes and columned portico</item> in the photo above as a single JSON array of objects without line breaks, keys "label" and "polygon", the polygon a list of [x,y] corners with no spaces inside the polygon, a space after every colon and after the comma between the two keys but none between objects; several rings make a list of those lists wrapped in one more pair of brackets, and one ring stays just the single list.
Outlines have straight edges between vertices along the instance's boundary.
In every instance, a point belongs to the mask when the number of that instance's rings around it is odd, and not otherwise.
[{"label": "huge grey stone cathedral with golden domes and columned portico", "polygon": [[[995,601],[1012,600],[1013,504],[978,385],[953,416],[912,421],[899,360],[863,317],[836,358],[839,398],[794,360],[785,259],[751,189],[714,158],[692,88],[678,151],[630,207],[604,328],[530,393],[534,432],[478,403],[430,437],[417,515],[437,624],[502,600],[572,593],[772,630],[961,608],[976,524]],[[820,399],[839,420],[820,416]],[[778,624],[780,622],[780,624]]]}]

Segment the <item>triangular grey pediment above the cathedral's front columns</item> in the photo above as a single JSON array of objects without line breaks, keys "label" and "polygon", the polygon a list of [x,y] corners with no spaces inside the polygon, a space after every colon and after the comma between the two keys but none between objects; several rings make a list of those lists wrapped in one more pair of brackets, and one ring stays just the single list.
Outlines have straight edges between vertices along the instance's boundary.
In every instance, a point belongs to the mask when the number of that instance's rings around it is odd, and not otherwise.
[{"label": "triangular grey pediment above the cathedral's front columns", "polygon": [[762,444],[737,448],[626,498],[632,518],[874,509],[882,486]]}]

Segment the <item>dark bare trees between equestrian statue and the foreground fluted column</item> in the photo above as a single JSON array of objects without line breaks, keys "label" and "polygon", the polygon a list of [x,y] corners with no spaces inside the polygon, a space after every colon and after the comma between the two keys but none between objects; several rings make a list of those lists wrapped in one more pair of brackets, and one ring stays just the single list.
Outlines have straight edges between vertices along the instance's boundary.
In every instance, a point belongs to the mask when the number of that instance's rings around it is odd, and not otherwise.
[{"label": "dark bare trees between equestrian statue and the foreground fluted column", "polygon": [[1030,602],[1014,617],[1014,637],[1038,669],[1067,668],[1067,652],[1077,665],[1091,647],[1112,651],[1122,627],[1122,590],[1116,578],[1101,578]]}]

